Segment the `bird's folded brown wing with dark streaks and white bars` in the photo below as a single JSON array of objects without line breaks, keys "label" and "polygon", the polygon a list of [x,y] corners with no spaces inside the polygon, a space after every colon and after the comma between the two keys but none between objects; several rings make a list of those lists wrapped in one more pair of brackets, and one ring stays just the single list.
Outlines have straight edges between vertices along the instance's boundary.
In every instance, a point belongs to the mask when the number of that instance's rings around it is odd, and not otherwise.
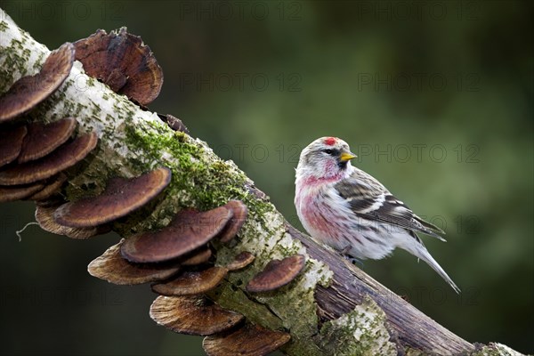
[{"label": "bird's folded brown wing with dark streaks and white bars", "polygon": [[334,187],[339,196],[347,201],[352,212],[360,217],[390,223],[445,240],[439,235],[445,234],[445,231],[414,214],[401,200],[393,197],[380,182],[363,171],[337,182]]}]

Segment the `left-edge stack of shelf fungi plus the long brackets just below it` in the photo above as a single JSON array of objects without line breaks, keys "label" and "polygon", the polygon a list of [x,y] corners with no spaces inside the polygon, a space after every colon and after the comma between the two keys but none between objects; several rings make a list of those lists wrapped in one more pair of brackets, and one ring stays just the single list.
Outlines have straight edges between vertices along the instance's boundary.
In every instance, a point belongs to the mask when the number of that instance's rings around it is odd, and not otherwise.
[{"label": "left-edge stack of shelf fungi plus the long brackets just below it", "polygon": [[158,168],[126,180],[109,180],[93,198],[65,201],[62,189],[73,168],[91,159],[96,133],[84,133],[75,117],[44,123],[31,115],[69,77],[75,46],[63,44],[35,76],[21,77],[0,96],[0,202],[36,201],[36,221],[46,231],[86,239],[110,230],[114,220],[146,204],[165,189],[171,172]]}]

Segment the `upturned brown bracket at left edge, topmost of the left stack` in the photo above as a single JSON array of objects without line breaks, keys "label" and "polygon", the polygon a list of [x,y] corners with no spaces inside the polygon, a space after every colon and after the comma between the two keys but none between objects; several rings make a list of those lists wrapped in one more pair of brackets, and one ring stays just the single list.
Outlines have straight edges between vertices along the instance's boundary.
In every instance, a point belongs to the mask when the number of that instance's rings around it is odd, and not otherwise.
[{"label": "upturned brown bracket at left edge, topmost of the left stack", "polygon": [[35,76],[21,77],[0,97],[0,124],[33,109],[55,92],[69,77],[74,46],[66,43],[50,53]]}]

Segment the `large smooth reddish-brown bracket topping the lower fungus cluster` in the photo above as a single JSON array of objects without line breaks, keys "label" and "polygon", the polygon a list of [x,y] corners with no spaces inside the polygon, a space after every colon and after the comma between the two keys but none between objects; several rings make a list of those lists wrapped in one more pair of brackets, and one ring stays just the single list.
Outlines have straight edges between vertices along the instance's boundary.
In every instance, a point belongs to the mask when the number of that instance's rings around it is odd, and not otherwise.
[{"label": "large smooth reddish-brown bracket topping the lower fungus cluster", "polygon": [[224,206],[206,212],[182,210],[162,230],[127,239],[122,254],[137,263],[168,261],[205,245],[223,230],[230,218],[231,212]]}]

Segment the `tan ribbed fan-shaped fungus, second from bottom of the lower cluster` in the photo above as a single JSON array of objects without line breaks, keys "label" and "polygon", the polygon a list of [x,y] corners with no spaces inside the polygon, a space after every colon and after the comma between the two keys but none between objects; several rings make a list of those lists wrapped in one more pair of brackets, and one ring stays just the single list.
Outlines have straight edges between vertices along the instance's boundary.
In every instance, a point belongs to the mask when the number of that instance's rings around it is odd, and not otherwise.
[{"label": "tan ribbed fan-shaped fungus, second from bottom of the lower cluster", "polygon": [[163,296],[150,305],[150,318],[176,333],[207,336],[233,328],[245,317],[202,295]]}]

